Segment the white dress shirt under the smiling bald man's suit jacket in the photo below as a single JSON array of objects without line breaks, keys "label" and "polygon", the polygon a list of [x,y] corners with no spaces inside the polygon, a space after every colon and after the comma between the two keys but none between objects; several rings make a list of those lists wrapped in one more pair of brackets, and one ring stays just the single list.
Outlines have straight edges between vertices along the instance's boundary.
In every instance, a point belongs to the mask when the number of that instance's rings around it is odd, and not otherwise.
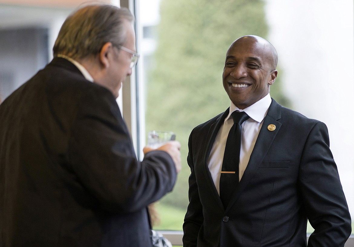
[{"label": "white dress shirt under the smiling bald man's suit jacket", "polygon": [[226,140],[229,131],[234,124],[231,114],[235,110],[238,110],[240,112],[246,112],[247,115],[250,116],[249,119],[242,123],[242,138],[239,164],[240,181],[250,160],[253,147],[256,144],[259,131],[261,130],[263,120],[265,118],[265,115],[267,115],[268,108],[271,102],[272,98],[270,98],[270,94],[268,94],[261,100],[252,104],[252,106],[249,106],[243,110],[240,110],[238,107],[236,107],[234,103],[230,103],[229,115],[225,118],[223,125],[220,127],[219,132],[216,135],[215,141],[210,152],[210,156],[207,161],[211,177],[215,183],[216,190],[219,194],[220,171],[224,158]]}]

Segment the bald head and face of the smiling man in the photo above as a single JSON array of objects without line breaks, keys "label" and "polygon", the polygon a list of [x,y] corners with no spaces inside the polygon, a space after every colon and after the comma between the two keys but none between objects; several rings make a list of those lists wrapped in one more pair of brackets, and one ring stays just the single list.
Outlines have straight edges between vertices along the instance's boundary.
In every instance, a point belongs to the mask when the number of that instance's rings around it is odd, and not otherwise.
[{"label": "bald head and face of the smiling man", "polygon": [[235,40],[226,53],[224,89],[239,109],[267,96],[278,74],[278,55],[264,38],[248,35]]}]

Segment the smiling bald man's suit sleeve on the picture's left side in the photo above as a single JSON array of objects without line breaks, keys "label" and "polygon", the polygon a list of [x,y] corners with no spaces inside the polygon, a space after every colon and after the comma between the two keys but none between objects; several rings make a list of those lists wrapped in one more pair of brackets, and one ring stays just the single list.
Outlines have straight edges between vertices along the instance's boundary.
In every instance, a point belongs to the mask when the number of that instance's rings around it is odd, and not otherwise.
[{"label": "smiling bald man's suit sleeve on the picture's left side", "polygon": [[[194,130],[193,130],[194,131]],[[190,167],[191,174],[189,176],[189,204],[187,213],[183,223],[183,246],[191,247],[197,245],[198,233],[203,224],[204,218],[202,213],[202,204],[199,199],[198,185],[195,178],[195,165],[193,162],[193,131],[188,141],[188,157],[187,163]]]}]

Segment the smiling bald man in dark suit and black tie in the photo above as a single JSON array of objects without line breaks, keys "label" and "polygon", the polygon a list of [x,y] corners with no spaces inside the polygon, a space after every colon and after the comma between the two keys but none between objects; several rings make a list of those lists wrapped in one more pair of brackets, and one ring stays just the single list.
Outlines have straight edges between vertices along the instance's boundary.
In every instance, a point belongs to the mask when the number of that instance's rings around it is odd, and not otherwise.
[{"label": "smiling bald man in dark suit and black tie", "polygon": [[230,107],[189,137],[184,247],[305,247],[308,220],[315,229],[308,246],[348,239],[351,219],[327,127],[270,97],[277,63],[273,45],[258,36],[240,37],[227,51]]}]

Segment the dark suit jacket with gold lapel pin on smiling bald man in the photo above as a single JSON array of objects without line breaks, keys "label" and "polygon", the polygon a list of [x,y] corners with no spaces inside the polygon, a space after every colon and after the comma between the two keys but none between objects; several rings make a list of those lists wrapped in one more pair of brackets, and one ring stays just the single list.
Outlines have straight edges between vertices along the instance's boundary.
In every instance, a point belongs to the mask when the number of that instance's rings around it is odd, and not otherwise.
[{"label": "dark suit jacket with gold lapel pin on smiling bald man", "polygon": [[[265,116],[250,161],[224,209],[207,159],[228,110],[189,137],[183,246],[344,246],[350,215],[324,123],[280,106]],[[268,125],[276,126],[274,131]]]}]

